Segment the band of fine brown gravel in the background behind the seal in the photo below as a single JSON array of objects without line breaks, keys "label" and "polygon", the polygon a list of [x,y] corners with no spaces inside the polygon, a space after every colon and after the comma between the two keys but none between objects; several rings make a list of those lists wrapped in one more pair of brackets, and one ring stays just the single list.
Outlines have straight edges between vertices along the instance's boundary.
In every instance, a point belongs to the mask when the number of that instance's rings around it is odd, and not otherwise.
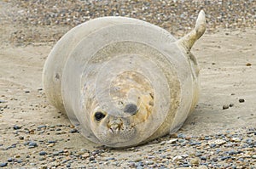
[{"label": "band of fine brown gravel in the background behind the seal", "polygon": [[[15,25],[31,27],[12,33],[11,42],[20,43],[56,42],[73,26],[102,16],[145,20],[170,31],[176,37],[182,37],[194,27],[201,9],[206,12],[208,32],[217,31],[218,28],[234,30],[256,27],[254,0],[13,0],[9,3],[16,9],[5,14],[3,20],[9,19]],[[66,29],[57,29],[60,26]]]}]

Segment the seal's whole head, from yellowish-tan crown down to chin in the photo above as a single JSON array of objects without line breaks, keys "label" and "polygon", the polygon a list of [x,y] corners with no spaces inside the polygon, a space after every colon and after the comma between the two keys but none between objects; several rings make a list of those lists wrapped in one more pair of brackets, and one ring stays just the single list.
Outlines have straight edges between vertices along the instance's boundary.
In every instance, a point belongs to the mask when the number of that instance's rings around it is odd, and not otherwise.
[{"label": "seal's whole head, from yellowish-tan crown down to chin", "polygon": [[97,99],[106,104],[97,104],[90,114],[90,128],[102,144],[126,147],[154,133],[154,90],[143,75],[123,72],[107,91],[108,99]]}]

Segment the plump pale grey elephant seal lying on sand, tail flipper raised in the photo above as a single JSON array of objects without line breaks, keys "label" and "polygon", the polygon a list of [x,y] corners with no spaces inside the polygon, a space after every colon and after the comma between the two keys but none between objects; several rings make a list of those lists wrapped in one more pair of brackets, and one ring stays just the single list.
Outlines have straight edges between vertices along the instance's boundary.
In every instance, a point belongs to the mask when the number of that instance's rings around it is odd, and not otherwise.
[{"label": "plump pale grey elephant seal lying on sand, tail flipper raised", "polygon": [[198,100],[190,49],[205,30],[203,11],[179,40],[142,20],[90,20],[55,44],[44,64],[44,91],[97,144],[124,148],[176,132]]}]

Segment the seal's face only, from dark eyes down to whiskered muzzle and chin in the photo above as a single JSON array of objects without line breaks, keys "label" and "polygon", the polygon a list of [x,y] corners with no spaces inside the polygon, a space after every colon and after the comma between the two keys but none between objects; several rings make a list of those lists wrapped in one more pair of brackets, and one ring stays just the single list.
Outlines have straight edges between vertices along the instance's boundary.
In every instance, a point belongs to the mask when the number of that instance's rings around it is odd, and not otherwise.
[{"label": "seal's face only, from dark eyes down to whiskered muzzle and chin", "polygon": [[96,138],[102,144],[112,147],[125,147],[141,142],[150,127],[148,117],[154,107],[153,100],[148,94],[148,99],[140,99],[138,104],[125,104],[124,109],[116,115],[97,109],[91,115],[91,129]]}]

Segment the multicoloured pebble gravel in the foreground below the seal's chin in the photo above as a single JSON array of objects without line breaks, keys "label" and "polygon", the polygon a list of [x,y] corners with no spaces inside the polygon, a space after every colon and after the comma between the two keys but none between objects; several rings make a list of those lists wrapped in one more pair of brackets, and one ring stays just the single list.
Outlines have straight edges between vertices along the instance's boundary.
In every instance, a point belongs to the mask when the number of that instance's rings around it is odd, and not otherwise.
[{"label": "multicoloured pebble gravel in the foreground below the seal's chin", "polygon": [[[45,133],[54,136],[61,128],[63,138],[72,138],[77,132],[68,132],[73,129],[69,125],[45,124]],[[19,140],[19,134],[25,138],[40,133],[36,125],[21,126],[18,133],[9,132],[10,137]],[[26,130],[32,131],[25,132]],[[15,136],[17,135],[17,136]],[[65,140],[20,140],[12,149],[26,150],[26,154],[16,154],[2,159],[1,166],[18,167],[105,167],[109,168],[255,168],[256,164],[256,127],[245,127],[236,131],[230,130],[207,135],[185,135],[178,131],[171,136],[156,139],[148,144],[127,149],[109,149],[105,146],[84,149],[82,147],[68,147]],[[195,144],[193,144],[195,143]],[[49,147],[49,144],[55,144]],[[70,145],[69,145],[70,146]],[[79,145],[78,145],[79,146]],[[81,145],[80,145],[81,146]],[[3,144],[1,151],[10,154],[8,145]],[[32,150],[29,150],[32,147]],[[46,151],[47,149],[47,151]],[[14,152],[12,150],[12,152]]]}]

